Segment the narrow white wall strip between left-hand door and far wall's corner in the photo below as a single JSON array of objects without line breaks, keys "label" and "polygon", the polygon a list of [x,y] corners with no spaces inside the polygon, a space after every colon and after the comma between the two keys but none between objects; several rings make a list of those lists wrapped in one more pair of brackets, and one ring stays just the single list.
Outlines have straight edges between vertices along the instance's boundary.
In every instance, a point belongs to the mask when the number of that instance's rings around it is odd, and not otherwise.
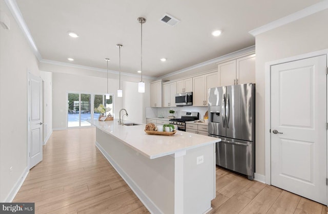
[{"label": "narrow white wall strip between left-hand door and far wall's corner", "polygon": [[47,143],[52,133],[52,73],[40,71],[40,77],[44,81],[44,144]]}]

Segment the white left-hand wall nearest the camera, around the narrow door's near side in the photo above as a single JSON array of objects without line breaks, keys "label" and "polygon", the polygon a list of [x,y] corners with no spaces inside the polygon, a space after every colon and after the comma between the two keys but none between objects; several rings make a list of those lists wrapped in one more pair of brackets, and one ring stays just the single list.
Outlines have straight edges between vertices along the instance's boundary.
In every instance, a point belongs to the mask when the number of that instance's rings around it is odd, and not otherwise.
[{"label": "white left-hand wall nearest the camera, around the narrow door's near side", "polygon": [[[0,201],[8,201],[27,169],[27,71],[39,76],[38,61],[4,1],[0,26]],[[10,167],[12,166],[12,172]]]}]

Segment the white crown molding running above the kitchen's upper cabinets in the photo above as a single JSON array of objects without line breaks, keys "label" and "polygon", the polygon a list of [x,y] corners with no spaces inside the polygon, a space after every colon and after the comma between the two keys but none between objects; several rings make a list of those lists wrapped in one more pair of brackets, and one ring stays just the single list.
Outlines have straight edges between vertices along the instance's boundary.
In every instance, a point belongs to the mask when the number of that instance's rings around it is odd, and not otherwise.
[{"label": "white crown molding running above the kitchen's upper cabinets", "polygon": [[167,77],[170,77],[170,76],[174,76],[176,74],[185,73],[185,72],[188,72],[188,71],[193,70],[193,69],[197,69],[197,68],[207,66],[207,65],[210,65],[210,64],[213,64],[213,63],[218,63],[218,62],[221,62],[221,61],[224,61],[224,60],[227,60],[227,59],[231,59],[233,57],[236,57],[236,56],[239,56],[239,55],[242,55],[242,54],[245,54],[245,53],[251,53],[251,52],[254,52],[254,51],[255,51],[255,46],[244,48],[244,49],[241,49],[239,51],[235,51],[235,52],[223,55],[223,56],[219,56],[219,57],[216,57],[214,59],[210,59],[208,61],[198,63],[194,66],[191,66],[191,67],[188,67],[188,68],[185,68],[185,69],[181,69],[181,70],[172,72],[172,73],[167,74],[167,75],[160,76],[157,79],[163,79],[163,78],[167,78]]}]

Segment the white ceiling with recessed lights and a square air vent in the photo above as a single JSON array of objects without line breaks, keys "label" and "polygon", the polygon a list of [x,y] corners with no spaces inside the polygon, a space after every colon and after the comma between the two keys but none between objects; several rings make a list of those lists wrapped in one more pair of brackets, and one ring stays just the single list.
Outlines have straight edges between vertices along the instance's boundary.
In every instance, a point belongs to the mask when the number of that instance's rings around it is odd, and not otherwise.
[{"label": "white ceiling with recessed lights and a square air vent", "polygon": [[[309,7],[319,0],[16,0],[43,59],[119,70],[140,70],[140,24],[144,75],[160,77],[255,45],[249,31]],[[160,22],[168,13],[181,22]],[[221,29],[219,37],[211,32]],[[74,31],[78,38],[68,36]],[[73,62],[67,60],[74,58]],[[161,62],[160,58],[167,58]]]}]

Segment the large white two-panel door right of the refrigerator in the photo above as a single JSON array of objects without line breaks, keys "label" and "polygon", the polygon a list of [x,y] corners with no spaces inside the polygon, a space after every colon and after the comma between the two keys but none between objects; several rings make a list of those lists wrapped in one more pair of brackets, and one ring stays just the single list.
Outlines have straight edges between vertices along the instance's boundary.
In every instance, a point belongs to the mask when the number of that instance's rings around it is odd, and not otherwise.
[{"label": "large white two-panel door right of the refrigerator", "polygon": [[322,55],[271,67],[271,184],[322,204],[327,203],[326,66]]}]

